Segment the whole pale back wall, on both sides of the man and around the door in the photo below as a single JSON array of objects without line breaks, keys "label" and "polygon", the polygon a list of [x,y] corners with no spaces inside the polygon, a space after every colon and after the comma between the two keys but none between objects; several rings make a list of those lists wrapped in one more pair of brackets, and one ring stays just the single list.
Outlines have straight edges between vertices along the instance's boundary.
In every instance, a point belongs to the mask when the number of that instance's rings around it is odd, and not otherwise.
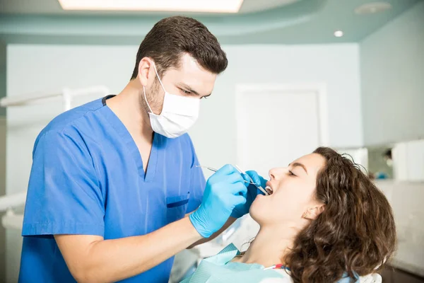
[{"label": "whole pale back wall, on both sides of the man and around the door", "polygon": [[[131,76],[137,48],[9,45],[7,94],[17,96],[92,84],[105,84],[112,93],[117,93]],[[190,132],[202,163],[218,167],[235,162],[235,86],[240,83],[325,83],[331,146],[362,145],[358,45],[223,48],[228,54],[228,70],[218,78],[211,98],[202,100],[199,122]],[[26,189],[35,137],[59,112],[61,104],[53,102],[8,109],[8,194]],[[251,131],[266,135],[261,129]],[[7,270],[11,282],[18,270],[21,245],[18,235],[16,231],[8,231],[7,235]]]}]

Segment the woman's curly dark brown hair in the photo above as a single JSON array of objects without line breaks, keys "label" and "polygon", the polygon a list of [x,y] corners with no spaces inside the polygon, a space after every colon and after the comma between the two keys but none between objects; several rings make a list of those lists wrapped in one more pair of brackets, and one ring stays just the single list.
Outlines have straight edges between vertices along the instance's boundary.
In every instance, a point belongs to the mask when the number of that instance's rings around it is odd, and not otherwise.
[{"label": "woman's curly dark brown hair", "polygon": [[378,271],[394,253],[393,212],[353,161],[326,147],[314,154],[326,159],[316,190],[324,212],[300,231],[284,261],[294,282],[336,282],[345,272],[354,282],[355,274]]}]

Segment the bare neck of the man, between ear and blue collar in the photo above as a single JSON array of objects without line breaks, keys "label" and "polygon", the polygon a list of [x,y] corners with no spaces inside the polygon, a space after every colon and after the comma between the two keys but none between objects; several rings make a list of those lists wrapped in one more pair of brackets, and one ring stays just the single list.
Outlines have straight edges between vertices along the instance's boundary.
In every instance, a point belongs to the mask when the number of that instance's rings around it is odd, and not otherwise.
[{"label": "bare neck of the man, between ear and blue collar", "polygon": [[141,135],[143,139],[151,140],[153,129],[148,113],[143,107],[143,99],[143,86],[135,79],[130,81],[119,95],[108,99],[107,105],[119,117],[131,135]]}]

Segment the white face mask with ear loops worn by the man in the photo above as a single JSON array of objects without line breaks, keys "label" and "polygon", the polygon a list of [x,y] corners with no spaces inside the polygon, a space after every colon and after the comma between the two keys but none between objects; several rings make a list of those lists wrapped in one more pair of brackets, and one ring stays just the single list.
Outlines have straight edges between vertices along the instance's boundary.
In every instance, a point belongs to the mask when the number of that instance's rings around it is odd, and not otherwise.
[{"label": "white face mask with ear loops worn by the man", "polygon": [[[154,64],[153,67],[155,68],[156,76],[158,76],[160,86],[165,91]],[[198,98],[176,96],[165,91],[162,112],[160,115],[156,115],[153,113],[150,105],[148,105],[144,86],[143,93],[148,109],[151,111],[148,113],[151,127],[158,134],[170,138],[179,137],[185,134],[194,125],[197,117],[199,117],[200,99]]]}]

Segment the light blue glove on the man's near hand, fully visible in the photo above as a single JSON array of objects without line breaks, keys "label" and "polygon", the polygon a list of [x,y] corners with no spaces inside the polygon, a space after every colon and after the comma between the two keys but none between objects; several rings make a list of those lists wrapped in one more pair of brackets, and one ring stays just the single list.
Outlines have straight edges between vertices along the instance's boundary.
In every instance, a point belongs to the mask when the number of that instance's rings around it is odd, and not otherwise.
[{"label": "light blue glove on the man's near hand, fully visible", "polygon": [[232,210],[246,202],[247,187],[242,175],[231,165],[225,165],[206,182],[199,209],[189,218],[197,232],[204,238],[222,228]]}]

